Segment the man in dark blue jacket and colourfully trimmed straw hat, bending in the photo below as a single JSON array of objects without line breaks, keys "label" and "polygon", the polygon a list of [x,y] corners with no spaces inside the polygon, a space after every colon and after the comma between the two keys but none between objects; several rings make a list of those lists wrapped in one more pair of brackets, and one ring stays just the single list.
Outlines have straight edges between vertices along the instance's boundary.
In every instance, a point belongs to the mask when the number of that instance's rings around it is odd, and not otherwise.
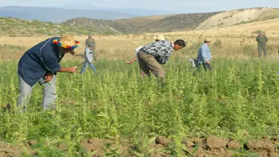
[{"label": "man in dark blue jacket and colourfully trimmed straw hat, bending", "polygon": [[20,96],[17,98],[19,110],[26,110],[33,86],[39,82],[43,89],[43,108],[55,109],[56,73],[75,73],[77,67],[64,68],[60,61],[66,53],[75,54],[80,43],[73,36],[64,35],[48,38],[27,50],[18,62],[17,74],[20,78]]}]

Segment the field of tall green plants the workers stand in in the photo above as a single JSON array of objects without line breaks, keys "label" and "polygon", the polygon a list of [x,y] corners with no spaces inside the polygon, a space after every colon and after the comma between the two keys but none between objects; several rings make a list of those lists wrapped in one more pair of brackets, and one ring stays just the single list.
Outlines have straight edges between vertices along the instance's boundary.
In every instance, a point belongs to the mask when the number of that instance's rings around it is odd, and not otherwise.
[{"label": "field of tall green plants the workers stand in", "polygon": [[[163,135],[174,140],[168,148],[173,156],[181,156],[182,137],[217,135],[245,143],[279,134],[276,61],[215,59],[211,73],[193,75],[188,61],[172,58],[164,83],[142,80],[137,62],[101,59],[95,66],[96,74],[89,68],[84,75],[58,74],[56,110],[42,110],[43,87],[36,84],[27,112],[19,113],[17,61],[1,61],[0,140],[19,146],[38,140],[37,156],[85,156],[78,153],[81,140],[132,138],[138,156],[149,156],[144,143]],[[57,143],[68,149],[62,154]]]}]

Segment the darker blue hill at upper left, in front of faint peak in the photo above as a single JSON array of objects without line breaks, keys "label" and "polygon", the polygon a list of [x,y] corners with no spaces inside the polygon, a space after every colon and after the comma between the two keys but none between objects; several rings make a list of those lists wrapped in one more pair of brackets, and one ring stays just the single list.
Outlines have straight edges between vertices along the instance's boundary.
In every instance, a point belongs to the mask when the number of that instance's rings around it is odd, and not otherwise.
[{"label": "darker blue hill at upper left, in front of faint peak", "polygon": [[77,17],[91,19],[116,20],[137,17],[129,13],[120,13],[110,10],[73,10],[63,8],[43,8],[27,6],[0,7],[0,17],[15,17],[23,20],[39,20],[43,22],[61,23]]}]

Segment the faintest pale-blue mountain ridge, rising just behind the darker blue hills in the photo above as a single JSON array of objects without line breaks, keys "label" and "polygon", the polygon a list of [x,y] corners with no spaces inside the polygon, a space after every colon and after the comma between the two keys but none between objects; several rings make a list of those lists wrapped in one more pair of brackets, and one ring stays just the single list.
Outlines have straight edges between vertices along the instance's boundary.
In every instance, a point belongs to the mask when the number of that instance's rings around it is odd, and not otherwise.
[{"label": "faintest pale-blue mountain ridge, rising just behind the darker blue hills", "polygon": [[90,3],[69,3],[63,6],[57,6],[56,8],[65,8],[65,9],[86,9],[86,10],[110,10],[121,13],[130,13],[138,16],[150,16],[150,15],[169,15],[177,14],[174,11],[169,10],[157,10],[157,9],[139,9],[139,8],[112,8],[112,7],[100,7],[93,6]]}]

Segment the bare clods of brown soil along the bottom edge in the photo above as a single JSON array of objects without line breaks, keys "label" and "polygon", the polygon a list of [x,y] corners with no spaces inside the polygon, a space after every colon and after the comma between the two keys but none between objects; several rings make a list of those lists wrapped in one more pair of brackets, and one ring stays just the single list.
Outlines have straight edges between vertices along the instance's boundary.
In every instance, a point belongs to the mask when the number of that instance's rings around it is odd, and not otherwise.
[{"label": "bare clods of brown soil along the bottom edge", "polygon": [[[207,138],[185,138],[182,140],[182,144],[185,146],[183,151],[188,156],[214,156],[225,157],[233,156],[239,153],[244,148],[247,151],[254,152],[263,157],[279,157],[279,138],[272,137],[268,139],[264,137],[262,140],[248,140],[244,145],[237,140],[222,139],[216,136],[209,136]],[[0,142],[0,156],[21,156],[24,150],[27,150],[29,154],[36,154],[36,151],[31,148],[34,144],[37,144],[37,140],[30,140],[26,142],[25,148],[14,147],[11,144]],[[167,139],[164,136],[158,136],[156,139],[148,144],[148,147],[139,148],[133,144],[133,140],[101,140],[101,139],[89,139],[82,140],[81,146],[86,150],[86,153],[95,152],[93,157],[99,157],[104,155],[115,155],[116,152],[120,156],[137,156],[138,154],[149,154],[152,157],[165,157],[172,156],[170,147],[173,147],[174,141]],[[67,144],[56,144],[56,147],[62,151],[68,149]],[[146,149],[146,150],[145,150]],[[244,150],[244,151],[245,151]]]}]

